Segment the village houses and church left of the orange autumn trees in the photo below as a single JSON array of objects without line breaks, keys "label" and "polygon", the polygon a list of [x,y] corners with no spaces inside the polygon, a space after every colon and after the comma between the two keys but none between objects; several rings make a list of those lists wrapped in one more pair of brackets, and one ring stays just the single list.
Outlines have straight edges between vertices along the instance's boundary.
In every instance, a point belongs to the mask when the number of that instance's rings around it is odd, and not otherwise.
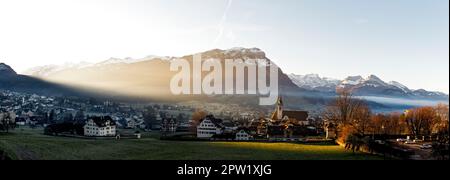
[{"label": "village houses and church left of the orange autumn trees", "polygon": [[[161,139],[231,141],[302,141],[319,136],[306,111],[286,111],[279,98],[275,111],[267,117],[256,111],[233,113],[220,107],[220,114],[173,105],[128,105],[93,99],[56,98],[23,93],[2,93],[0,109],[4,118],[14,119],[17,127],[42,127],[49,135],[118,138],[120,129],[160,132]],[[214,111],[214,110],[211,110]],[[196,119],[193,119],[196,118]]]}]

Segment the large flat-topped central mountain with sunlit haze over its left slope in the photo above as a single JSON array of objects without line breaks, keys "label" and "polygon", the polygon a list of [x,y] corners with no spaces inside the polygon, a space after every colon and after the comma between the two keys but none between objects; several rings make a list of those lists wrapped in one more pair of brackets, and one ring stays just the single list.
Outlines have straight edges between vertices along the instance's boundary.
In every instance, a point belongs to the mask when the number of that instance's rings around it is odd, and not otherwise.
[{"label": "large flat-topped central mountain with sunlit haze over its left slope", "polygon": [[[271,62],[265,52],[257,48],[233,48],[229,50],[213,49],[202,52],[203,59],[218,59],[222,65],[225,59],[263,59]],[[65,65],[47,65],[27,70],[25,74],[45,79],[51,82],[66,84],[85,89],[102,89],[105,94],[117,96],[135,96],[152,100],[183,101],[202,100],[210,102],[240,103],[254,105],[258,104],[254,95],[235,96],[176,96],[170,91],[170,81],[176,72],[170,71],[170,62],[173,59],[182,58],[188,60],[192,65],[193,55],[183,57],[160,57],[148,56],[141,59],[133,58],[110,58],[100,63],[78,63]],[[224,65],[222,67],[225,67]],[[225,71],[223,71],[225,72]],[[204,77],[206,74],[202,74]],[[297,94],[301,88],[297,87],[289,77],[279,69],[279,88],[284,94]],[[246,76],[245,79],[248,79]],[[236,79],[234,79],[236,80]],[[319,96],[315,96],[319,97]],[[244,100],[246,99],[246,100]],[[293,97],[291,101],[301,104],[315,104],[320,98],[309,99],[308,97]],[[322,102],[323,103],[323,102]],[[291,104],[295,104],[292,102]]]}]

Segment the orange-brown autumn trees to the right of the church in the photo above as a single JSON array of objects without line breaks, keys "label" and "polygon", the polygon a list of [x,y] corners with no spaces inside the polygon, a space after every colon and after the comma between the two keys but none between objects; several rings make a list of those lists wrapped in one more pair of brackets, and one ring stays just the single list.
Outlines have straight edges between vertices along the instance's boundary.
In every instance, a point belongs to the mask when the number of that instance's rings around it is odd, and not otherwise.
[{"label": "orange-brown autumn trees to the right of the church", "polygon": [[444,104],[377,114],[363,99],[341,91],[327,106],[323,117],[333,127],[337,142],[354,151],[373,142],[375,136],[410,136],[448,146],[449,106]]}]

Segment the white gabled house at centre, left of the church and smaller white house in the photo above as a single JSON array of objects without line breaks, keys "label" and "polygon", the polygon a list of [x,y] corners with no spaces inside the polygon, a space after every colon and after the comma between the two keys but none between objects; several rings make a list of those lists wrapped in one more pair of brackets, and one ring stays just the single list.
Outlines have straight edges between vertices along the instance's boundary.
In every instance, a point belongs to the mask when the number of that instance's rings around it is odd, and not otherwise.
[{"label": "white gabled house at centre, left of the church and smaller white house", "polygon": [[223,133],[222,120],[207,116],[197,126],[197,138],[212,138],[214,135]]}]

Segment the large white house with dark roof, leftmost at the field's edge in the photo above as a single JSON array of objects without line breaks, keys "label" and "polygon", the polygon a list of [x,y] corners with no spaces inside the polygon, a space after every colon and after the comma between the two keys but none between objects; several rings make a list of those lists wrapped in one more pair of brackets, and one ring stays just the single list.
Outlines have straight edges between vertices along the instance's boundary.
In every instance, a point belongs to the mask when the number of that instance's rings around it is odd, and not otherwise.
[{"label": "large white house with dark roof, leftmost at the field's edge", "polygon": [[111,117],[92,117],[84,125],[84,135],[90,137],[116,136],[116,122]]}]

